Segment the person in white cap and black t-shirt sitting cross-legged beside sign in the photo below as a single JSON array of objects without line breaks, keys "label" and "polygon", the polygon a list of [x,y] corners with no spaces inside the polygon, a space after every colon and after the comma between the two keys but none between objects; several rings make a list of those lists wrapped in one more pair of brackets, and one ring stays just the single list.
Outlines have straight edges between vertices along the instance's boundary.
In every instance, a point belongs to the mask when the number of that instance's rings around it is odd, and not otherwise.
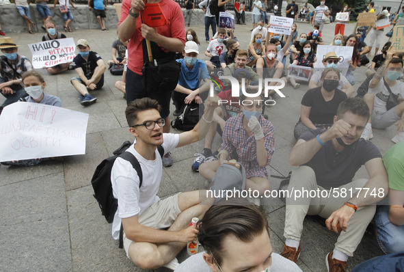
[{"label": "person in white cap and black t-shirt sitting cross-legged beside sign", "polygon": [[105,67],[103,59],[94,51],[90,51],[88,42],[84,39],[77,41],[77,55],[72,62],[73,68],[79,77],[70,79],[80,96],[80,104],[88,106],[96,103],[97,98],[88,93],[88,90],[100,90],[104,85]]}]

